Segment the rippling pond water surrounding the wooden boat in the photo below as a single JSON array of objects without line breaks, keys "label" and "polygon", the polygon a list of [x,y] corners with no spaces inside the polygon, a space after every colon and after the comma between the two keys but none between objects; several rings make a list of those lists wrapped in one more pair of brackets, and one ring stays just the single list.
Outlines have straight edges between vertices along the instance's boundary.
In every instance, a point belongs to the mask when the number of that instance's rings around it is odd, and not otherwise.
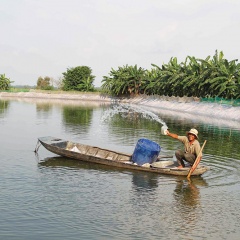
[{"label": "rippling pond water surrounding the wooden boat", "polygon": [[[239,239],[239,122],[163,107],[1,99],[0,239]],[[197,128],[211,170],[189,182],[34,153],[51,135],[127,153],[148,138],[173,156],[164,124]]]}]

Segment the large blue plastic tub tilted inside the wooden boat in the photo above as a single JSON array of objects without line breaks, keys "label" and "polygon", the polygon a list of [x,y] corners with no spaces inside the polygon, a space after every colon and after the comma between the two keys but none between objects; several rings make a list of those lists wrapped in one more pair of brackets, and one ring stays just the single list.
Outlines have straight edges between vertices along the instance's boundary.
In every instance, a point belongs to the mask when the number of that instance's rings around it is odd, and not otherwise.
[{"label": "large blue plastic tub tilted inside the wooden boat", "polygon": [[161,147],[156,142],[146,138],[139,139],[132,155],[132,161],[138,165],[151,164],[157,160],[160,151]]}]

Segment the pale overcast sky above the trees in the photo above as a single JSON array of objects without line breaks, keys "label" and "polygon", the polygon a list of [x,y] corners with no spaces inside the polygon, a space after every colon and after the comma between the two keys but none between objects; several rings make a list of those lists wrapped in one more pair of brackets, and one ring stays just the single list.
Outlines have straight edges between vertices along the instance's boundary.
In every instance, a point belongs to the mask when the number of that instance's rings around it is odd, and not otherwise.
[{"label": "pale overcast sky above the trees", "polygon": [[238,59],[239,13],[239,0],[0,0],[0,74],[34,86],[89,66],[99,87],[125,65]]}]

